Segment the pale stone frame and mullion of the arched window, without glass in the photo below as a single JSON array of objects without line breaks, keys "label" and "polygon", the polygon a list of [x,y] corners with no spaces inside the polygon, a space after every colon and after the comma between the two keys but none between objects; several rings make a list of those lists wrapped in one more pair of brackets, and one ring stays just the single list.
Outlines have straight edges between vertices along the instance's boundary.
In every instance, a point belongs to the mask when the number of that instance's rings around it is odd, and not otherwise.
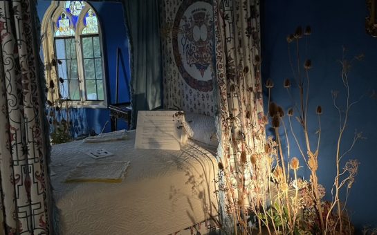
[{"label": "pale stone frame and mullion of the arched window, without glass", "polygon": [[[72,16],[70,13],[66,12],[65,9],[66,1],[51,1],[50,6],[45,12],[44,18],[42,20],[41,25],[41,32],[42,32],[42,47],[44,51],[44,66],[45,66],[45,78],[46,82],[52,79],[55,84],[57,84],[59,88],[59,77],[55,69],[50,65],[50,62],[53,59],[57,59],[56,50],[55,50],[55,39],[65,39],[68,37],[73,37],[75,40],[75,49],[76,49],[76,59],[77,59],[77,77],[79,79],[79,88],[80,88],[80,100],[70,100],[69,105],[75,108],[92,108],[92,109],[107,109],[108,107],[108,99],[107,99],[107,76],[105,71],[105,58],[104,58],[104,50],[103,50],[103,37],[102,37],[102,27],[101,21],[98,16],[98,12],[91,6],[91,4],[85,1],[85,6],[82,8],[80,15],[77,18],[77,25],[74,29],[75,34],[70,36],[61,36],[55,37],[55,27],[54,24],[56,23],[59,16],[64,12],[72,23]],[[95,16],[97,17],[98,21],[98,33],[95,34],[82,34],[82,30],[84,30],[84,17],[86,12],[89,10],[93,10]],[[71,26],[70,26],[71,28]],[[82,37],[93,37],[98,36],[100,39],[100,53],[101,53],[101,66],[102,66],[102,86],[103,86],[103,95],[104,100],[87,100],[86,99],[86,87],[85,87],[85,75],[84,75],[84,59],[83,59],[83,51],[82,51]],[[59,88],[60,89],[60,88]],[[60,91],[59,91],[60,93]],[[52,96],[52,97],[51,97]],[[57,100],[59,98],[59,94],[48,94],[48,100]],[[66,102],[63,102],[63,104]]]}]

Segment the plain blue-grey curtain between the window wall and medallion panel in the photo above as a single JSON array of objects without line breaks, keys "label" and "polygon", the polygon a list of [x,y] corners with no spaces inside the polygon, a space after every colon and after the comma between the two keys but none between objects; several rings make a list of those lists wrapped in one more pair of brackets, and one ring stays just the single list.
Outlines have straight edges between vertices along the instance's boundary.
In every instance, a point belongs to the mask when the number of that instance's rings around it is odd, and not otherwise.
[{"label": "plain blue-grey curtain between the window wall and medallion panel", "polygon": [[162,62],[158,0],[122,0],[131,48],[131,128],[139,110],[162,102]]}]

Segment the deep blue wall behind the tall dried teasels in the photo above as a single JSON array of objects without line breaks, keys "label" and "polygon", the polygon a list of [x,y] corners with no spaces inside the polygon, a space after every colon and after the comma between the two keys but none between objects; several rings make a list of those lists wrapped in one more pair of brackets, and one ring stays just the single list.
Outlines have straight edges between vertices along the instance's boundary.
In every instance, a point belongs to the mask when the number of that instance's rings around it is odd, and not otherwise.
[{"label": "deep blue wall behind the tall dried teasels", "polygon": [[[335,172],[335,145],[338,137],[338,113],[332,105],[331,90],[340,91],[344,97],[344,86],[340,77],[341,67],[338,59],[342,57],[342,46],[353,57],[360,53],[365,59],[355,62],[351,68],[351,99],[362,100],[351,110],[347,132],[341,146],[346,150],[353,140],[355,129],[362,131],[367,138],[360,140],[353,151],[346,157],[360,161],[358,176],[351,189],[348,208],[353,223],[359,229],[364,225],[377,227],[377,101],[371,99],[373,89],[377,90],[377,38],[365,32],[367,7],[365,1],[261,1],[261,55],[262,77],[273,79],[272,100],[284,109],[291,106],[288,95],[283,88],[285,78],[293,78],[288,63],[286,36],[295,32],[297,26],[310,25],[312,35],[309,37],[307,56],[302,52],[302,61],[311,59],[311,91],[309,96],[309,127],[313,140],[318,129],[315,108],[321,105],[322,141],[319,156],[319,180],[327,189],[327,198],[331,198],[331,186]],[[301,39],[304,49],[305,41]],[[297,93],[293,87],[293,92]],[[265,99],[266,100],[266,99]],[[344,99],[340,99],[343,102]],[[310,122],[312,120],[312,122]],[[294,121],[295,122],[295,121]],[[299,135],[303,138],[303,135]],[[290,139],[291,146],[294,142]],[[314,143],[312,143],[314,145]],[[294,148],[297,149],[297,148]],[[292,149],[291,149],[292,151]],[[300,156],[294,151],[292,156]],[[308,172],[300,172],[308,176]]]}]

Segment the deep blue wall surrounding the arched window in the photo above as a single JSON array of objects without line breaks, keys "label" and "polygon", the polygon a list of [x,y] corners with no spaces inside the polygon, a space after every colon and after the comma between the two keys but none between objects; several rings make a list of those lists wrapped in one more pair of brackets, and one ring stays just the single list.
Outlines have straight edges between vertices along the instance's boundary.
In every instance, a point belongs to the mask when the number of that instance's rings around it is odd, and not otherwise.
[{"label": "deep blue wall surrounding the arched window", "polygon": [[[51,1],[39,0],[37,12],[42,22],[44,13]],[[127,28],[125,27],[122,3],[90,2],[91,6],[98,12],[102,26],[102,44],[104,48],[104,65],[107,75],[107,93],[109,104],[116,102],[116,50],[121,50],[119,65],[119,100],[118,102],[129,102],[129,44],[127,40]],[[127,82],[126,82],[127,81]],[[84,109],[86,123],[89,131],[92,129],[100,133],[104,124],[110,120],[108,109]],[[118,121],[118,129],[127,128],[127,123]],[[107,124],[104,132],[110,131],[110,123]]]}]

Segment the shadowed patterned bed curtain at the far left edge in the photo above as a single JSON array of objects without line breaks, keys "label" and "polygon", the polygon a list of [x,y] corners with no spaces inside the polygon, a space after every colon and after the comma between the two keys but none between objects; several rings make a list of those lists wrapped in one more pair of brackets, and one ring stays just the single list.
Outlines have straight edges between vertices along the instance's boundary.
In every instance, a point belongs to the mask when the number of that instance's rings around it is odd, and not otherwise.
[{"label": "shadowed patterned bed curtain at the far left edge", "polygon": [[36,19],[35,1],[0,1],[0,209],[5,234],[50,234]]}]

